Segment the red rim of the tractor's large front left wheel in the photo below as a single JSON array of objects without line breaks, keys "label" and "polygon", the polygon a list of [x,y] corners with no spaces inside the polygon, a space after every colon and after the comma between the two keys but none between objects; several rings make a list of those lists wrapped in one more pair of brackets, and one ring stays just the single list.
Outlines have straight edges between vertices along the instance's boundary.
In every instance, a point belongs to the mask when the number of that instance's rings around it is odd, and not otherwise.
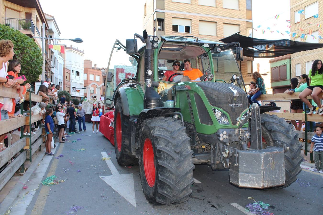
[{"label": "red rim of the tractor's large front left wheel", "polygon": [[151,140],[146,138],[143,144],[143,168],[145,170],[146,181],[150,187],[155,184],[155,164],[154,150],[152,149]]}]

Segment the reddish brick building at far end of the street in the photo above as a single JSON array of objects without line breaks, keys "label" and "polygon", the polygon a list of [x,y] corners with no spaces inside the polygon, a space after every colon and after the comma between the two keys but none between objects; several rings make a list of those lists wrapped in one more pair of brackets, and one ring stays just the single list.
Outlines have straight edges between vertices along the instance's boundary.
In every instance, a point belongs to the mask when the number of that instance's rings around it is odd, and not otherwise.
[{"label": "reddish brick building at far end of the street", "polygon": [[[87,87],[84,91],[84,96],[91,97],[104,94],[104,78],[106,74],[106,68],[99,68],[97,64],[92,67],[91,60],[84,60],[84,87]],[[89,95],[88,95],[89,93]]]}]

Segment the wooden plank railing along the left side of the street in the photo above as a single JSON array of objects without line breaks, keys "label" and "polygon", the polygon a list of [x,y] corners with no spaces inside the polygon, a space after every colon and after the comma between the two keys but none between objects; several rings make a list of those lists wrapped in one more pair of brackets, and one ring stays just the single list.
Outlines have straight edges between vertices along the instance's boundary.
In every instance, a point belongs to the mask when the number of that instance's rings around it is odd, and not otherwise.
[{"label": "wooden plank railing along the left side of the street", "polygon": [[[16,98],[18,96],[17,90],[14,88],[6,88],[0,86],[0,97],[6,98]],[[36,95],[32,92],[27,92],[25,95],[25,102],[29,102],[31,109],[31,102],[41,102],[42,97]],[[23,111],[23,104],[21,104],[21,113],[31,111]],[[30,114],[31,115],[31,114]],[[21,129],[20,140],[16,142],[11,142],[8,147],[0,152],[0,190],[5,186],[5,184],[11,179],[11,177],[16,173],[16,171],[21,168],[21,173],[24,173],[24,162],[26,159],[31,160],[32,155],[37,149],[41,150],[41,144],[44,142],[44,138],[41,137],[45,134],[44,128],[40,128],[36,131],[36,134],[24,135],[24,126],[27,125],[30,127],[31,124],[43,119],[43,116],[39,114],[31,116],[17,117],[7,120],[0,121],[0,135],[7,132],[11,132],[15,129]]]}]

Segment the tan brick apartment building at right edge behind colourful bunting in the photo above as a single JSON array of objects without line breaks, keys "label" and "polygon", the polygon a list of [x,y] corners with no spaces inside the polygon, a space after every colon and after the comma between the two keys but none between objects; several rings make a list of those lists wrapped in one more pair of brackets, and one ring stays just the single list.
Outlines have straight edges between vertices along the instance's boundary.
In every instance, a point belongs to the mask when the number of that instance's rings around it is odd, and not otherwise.
[{"label": "tan brick apartment building at right edge behind colourful bunting", "polygon": [[[304,10],[303,14],[299,14],[299,10]],[[318,17],[315,18],[314,15],[317,14]],[[320,31],[323,31],[323,0],[290,0],[290,25],[290,32],[298,34],[297,38],[291,40],[323,43],[323,39],[318,38],[319,35],[322,36]],[[304,38],[301,38],[302,34],[305,34]],[[291,54],[291,77],[308,74],[316,59],[323,59],[323,48]]]}]

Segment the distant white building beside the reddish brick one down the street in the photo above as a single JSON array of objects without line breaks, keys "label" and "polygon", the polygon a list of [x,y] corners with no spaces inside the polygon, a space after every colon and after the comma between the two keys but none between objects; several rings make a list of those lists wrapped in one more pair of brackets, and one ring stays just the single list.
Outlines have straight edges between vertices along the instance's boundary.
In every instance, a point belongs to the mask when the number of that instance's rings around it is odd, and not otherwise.
[{"label": "distant white building beside the reddish brick one down the street", "polygon": [[84,97],[84,52],[72,47],[65,49],[65,67],[70,70],[70,94],[72,98]]}]

